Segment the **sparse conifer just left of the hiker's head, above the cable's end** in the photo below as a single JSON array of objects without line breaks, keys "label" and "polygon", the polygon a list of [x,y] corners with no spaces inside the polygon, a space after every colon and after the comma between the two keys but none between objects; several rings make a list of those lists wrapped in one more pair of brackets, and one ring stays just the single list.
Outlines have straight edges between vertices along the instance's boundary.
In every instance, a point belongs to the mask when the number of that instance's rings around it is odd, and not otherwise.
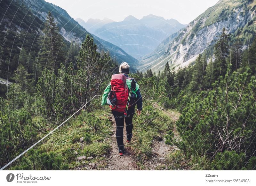
[{"label": "sparse conifer just left of the hiker's head, above the cable's end", "polygon": [[99,91],[101,83],[114,70],[114,65],[107,53],[100,55],[97,52],[97,45],[87,34],[77,57],[76,66],[74,88],[82,106]]}]

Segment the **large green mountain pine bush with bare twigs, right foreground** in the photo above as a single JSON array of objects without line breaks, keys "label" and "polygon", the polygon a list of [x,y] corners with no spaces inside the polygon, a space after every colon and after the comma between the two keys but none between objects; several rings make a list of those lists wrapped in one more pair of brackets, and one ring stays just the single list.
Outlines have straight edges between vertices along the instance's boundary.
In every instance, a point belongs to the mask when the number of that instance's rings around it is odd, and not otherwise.
[{"label": "large green mountain pine bush with bare twigs, right foreground", "polygon": [[[251,104],[255,102],[255,77],[251,76],[250,69],[231,74],[230,66],[225,77],[220,76],[220,82],[213,84],[213,90],[208,92],[207,97],[196,97],[193,104],[183,109],[176,123],[185,150],[215,156],[214,162],[223,155],[214,167],[227,170],[232,169],[230,166],[242,168],[239,162],[244,164],[249,160],[255,152],[252,144],[256,143],[256,107]],[[236,162],[238,156],[240,161],[236,166],[228,162]],[[229,167],[224,166],[225,163]]]}]

